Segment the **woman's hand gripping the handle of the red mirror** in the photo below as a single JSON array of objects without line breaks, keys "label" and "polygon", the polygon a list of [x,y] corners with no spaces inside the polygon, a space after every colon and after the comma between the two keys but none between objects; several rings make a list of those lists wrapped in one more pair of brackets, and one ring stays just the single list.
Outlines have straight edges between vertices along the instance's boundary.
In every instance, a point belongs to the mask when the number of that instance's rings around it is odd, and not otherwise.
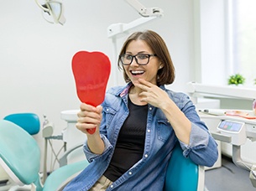
[{"label": "woman's hand gripping the handle of the red mirror", "polygon": [[86,103],[81,103],[80,111],[77,113],[77,116],[77,129],[89,136],[91,134],[87,132],[87,130],[96,128],[95,133],[99,134],[99,126],[102,121],[102,106],[94,107]]}]

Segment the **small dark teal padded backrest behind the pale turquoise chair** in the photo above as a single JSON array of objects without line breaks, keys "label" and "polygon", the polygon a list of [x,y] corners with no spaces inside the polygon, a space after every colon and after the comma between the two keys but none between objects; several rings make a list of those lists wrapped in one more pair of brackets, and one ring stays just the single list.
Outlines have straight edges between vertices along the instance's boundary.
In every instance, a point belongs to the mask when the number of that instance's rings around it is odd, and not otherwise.
[{"label": "small dark teal padded backrest behind the pale turquoise chair", "polygon": [[40,130],[39,116],[34,113],[13,113],[3,119],[12,121],[26,132],[29,132],[30,135],[37,134]]}]

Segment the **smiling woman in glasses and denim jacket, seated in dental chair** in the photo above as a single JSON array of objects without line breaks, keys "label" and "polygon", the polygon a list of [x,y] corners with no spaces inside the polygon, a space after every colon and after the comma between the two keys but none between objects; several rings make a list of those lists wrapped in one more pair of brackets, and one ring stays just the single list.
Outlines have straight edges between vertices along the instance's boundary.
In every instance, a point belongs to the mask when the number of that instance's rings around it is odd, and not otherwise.
[{"label": "smiling woman in glasses and denim jacket, seated in dental chair", "polygon": [[[86,133],[90,165],[65,190],[163,190],[176,142],[185,157],[211,167],[217,143],[189,97],[165,89],[175,68],[159,34],[129,36],[118,66],[128,84],[108,90],[102,106],[81,104],[76,127]],[[94,134],[86,132],[94,127]]]}]

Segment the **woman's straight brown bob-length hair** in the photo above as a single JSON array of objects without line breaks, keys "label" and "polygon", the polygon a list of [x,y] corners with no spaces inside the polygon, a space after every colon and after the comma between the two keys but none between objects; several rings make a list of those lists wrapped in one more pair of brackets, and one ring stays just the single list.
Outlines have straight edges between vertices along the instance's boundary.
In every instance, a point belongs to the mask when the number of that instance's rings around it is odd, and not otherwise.
[{"label": "woman's straight brown bob-length hair", "polygon": [[[151,30],[146,30],[144,32],[135,32],[131,34],[128,39],[124,42],[123,48],[120,51],[119,55],[125,54],[128,44],[133,40],[144,40],[146,44],[152,49],[153,53],[157,55],[159,61],[162,63],[163,68],[158,70],[157,74],[157,85],[169,85],[172,84],[175,80],[175,66],[172,63],[170,58],[169,50],[165,44],[165,41],[159,36],[159,34],[155,33]],[[123,65],[118,59],[118,68],[123,70]],[[123,78],[126,82],[129,82],[130,79],[128,75],[123,70]]]}]

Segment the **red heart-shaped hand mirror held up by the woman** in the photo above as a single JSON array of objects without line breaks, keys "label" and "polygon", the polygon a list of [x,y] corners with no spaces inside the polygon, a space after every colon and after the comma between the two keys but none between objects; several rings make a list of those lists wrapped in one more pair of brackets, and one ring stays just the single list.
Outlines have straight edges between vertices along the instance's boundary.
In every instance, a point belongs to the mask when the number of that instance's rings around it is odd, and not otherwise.
[{"label": "red heart-shaped hand mirror held up by the woman", "polygon": [[[76,93],[81,102],[91,106],[100,105],[105,98],[111,64],[102,52],[79,51],[72,59],[76,81]],[[93,134],[96,128],[88,129]]]}]

